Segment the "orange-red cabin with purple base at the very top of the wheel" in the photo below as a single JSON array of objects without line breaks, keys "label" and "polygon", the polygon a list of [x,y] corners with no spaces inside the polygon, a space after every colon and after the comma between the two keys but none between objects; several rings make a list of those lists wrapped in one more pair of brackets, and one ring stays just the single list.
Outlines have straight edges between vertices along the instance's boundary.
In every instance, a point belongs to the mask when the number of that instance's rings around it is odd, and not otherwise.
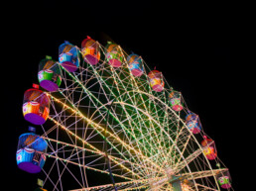
[{"label": "orange-red cabin with purple base at the very top of the wheel", "polygon": [[81,43],[81,54],[84,61],[91,65],[96,65],[100,59],[99,45],[90,37],[87,37]]}]

